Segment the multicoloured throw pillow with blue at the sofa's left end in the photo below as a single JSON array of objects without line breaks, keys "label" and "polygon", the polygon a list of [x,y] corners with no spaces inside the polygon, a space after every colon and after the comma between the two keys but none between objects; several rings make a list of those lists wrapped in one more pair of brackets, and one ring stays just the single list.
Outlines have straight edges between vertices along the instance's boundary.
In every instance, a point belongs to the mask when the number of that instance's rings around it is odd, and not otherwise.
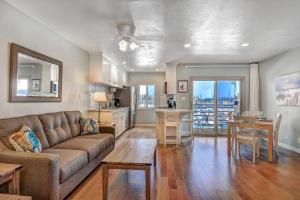
[{"label": "multicoloured throw pillow with blue at the sofa's left end", "polygon": [[35,153],[40,153],[42,151],[40,140],[26,125],[24,125],[20,131],[9,136],[9,141],[16,151]]}]

